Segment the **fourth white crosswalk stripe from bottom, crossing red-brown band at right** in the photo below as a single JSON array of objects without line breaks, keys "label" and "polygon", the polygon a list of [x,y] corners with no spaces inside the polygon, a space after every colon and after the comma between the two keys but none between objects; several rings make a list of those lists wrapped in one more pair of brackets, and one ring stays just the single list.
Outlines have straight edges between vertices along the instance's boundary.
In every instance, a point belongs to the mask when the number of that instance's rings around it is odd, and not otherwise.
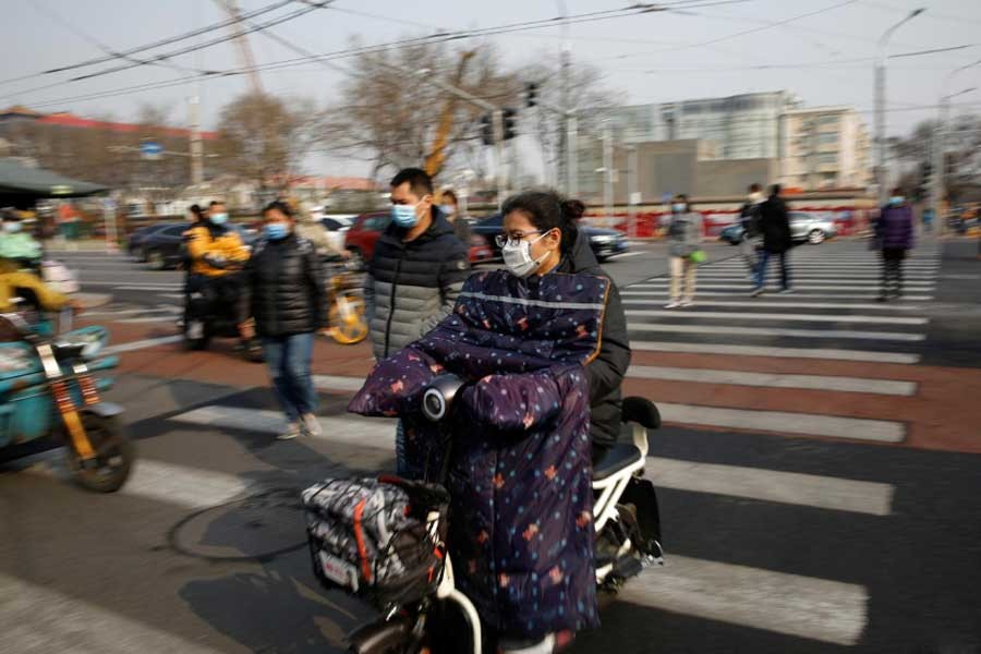
[{"label": "fourth white crosswalk stripe from bottom, crossing red-brown band at right", "polygon": [[668,379],[695,384],[728,384],[736,386],[762,386],[765,388],[807,388],[840,392],[869,392],[874,395],[907,396],[917,393],[915,382],[893,382],[861,377],[831,375],[783,375],[774,373],[746,373],[705,368],[662,367],[631,365],[627,377],[634,379]]}]

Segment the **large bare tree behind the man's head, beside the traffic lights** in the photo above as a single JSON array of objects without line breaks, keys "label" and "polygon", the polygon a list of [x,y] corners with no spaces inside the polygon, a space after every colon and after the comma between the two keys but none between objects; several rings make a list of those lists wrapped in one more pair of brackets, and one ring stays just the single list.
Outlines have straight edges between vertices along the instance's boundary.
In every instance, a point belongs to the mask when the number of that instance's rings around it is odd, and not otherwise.
[{"label": "large bare tree behind the man's head, beside the traffic lights", "polygon": [[[436,174],[455,158],[472,157],[480,148],[475,128],[483,110],[413,74],[423,69],[494,105],[513,105],[520,90],[517,78],[501,72],[489,45],[458,50],[423,44],[362,55],[341,86],[340,102],[329,110],[325,141],[330,149],[371,161],[375,177],[423,166],[440,141],[443,156],[432,158]],[[447,111],[451,120],[440,121]]]}]

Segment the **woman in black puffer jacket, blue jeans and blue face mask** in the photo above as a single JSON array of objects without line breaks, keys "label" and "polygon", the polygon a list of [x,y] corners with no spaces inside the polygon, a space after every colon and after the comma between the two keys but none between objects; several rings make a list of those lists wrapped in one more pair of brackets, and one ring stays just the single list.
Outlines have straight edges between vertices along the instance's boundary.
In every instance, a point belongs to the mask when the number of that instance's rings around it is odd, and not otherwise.
[{"label": "woman in black puffer jacket, blue jeans and blue face mask", "polygon": [[327,293],[316,247],[294,233],[292,210],[274,202],[263,210],[264,239],[245,266],[245,301],[276,396],[286,414],[280,440],[319,436],[311,379],[314,334],[327,326]]}]

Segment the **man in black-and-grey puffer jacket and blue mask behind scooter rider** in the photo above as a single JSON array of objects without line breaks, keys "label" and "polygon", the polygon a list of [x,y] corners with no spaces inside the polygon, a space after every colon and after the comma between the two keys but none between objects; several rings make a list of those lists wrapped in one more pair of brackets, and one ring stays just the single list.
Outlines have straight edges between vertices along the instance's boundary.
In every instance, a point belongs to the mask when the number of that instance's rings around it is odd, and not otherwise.
[{"label": "man in black-and-grey puffer jacket and blue mask behind scooter rider", "polygon": [[[433,179],[405,168],[391,180],[391,223],[375,244],[364,277],[364,306],[376,359],[419,340],[452,313],[470,274],[468,247],[435,204]],[[396,431],[396,464],[408,469],[405,433]]]}]

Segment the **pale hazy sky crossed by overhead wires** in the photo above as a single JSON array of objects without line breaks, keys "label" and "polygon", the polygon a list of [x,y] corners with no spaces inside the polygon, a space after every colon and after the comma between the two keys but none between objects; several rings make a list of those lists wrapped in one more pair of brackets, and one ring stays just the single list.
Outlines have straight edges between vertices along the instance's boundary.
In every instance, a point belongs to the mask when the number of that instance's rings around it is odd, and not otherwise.
[{"label": "pale hazy sky crossed by overhead wires", "polygon": [[[239,5],[247,12],[276,1],[240,0]],[[852,106],[871,124],[876,41],[911,10],[925,8],[896,32],[889,55],[967,47],[889,60],[891,135],[905,134],[919,121],[934,118],[943,81],[950,71],[981,62],[979,0],[682,1],[703,7],[570,25],[573,60],[601,69],[606,85],[625,94],[628,104],[787,89],[807,106]],[[664,4],[675,2],[679,0],[665,0]],[[564,3],[569,15],[582,15],[623,9],[634,0],[336,0],[330,8],[315,9],[271,32],[305,50],[328,52],[343,49],[352,37],[365,44],[386,44],[434,31],[555,19]],[[296,1],[267,15],[283,16],[304,7]],[[175,124],[186,121],[187,98],[194,94],[192,82],[180,82],[187,72],[143,65],[69,81],[82,73],[118,66],[119,61],[114,61],[71,72],[40,73],[105,56],[101,48],[133,48],[226,19],[219,3],[209,0],[0,0],[0,8],[8,26],[0,60],[0,107],[22,104],[40,111],[132,120],[141,105],[152,104],[166,108]],[[202,38],[219,36],[226,33]],[[262,33],[249,39],[259,65],[298,57]],[[508,63],[521,64],[549,53],[558,59],[561,29],[556,23],[484,40],[493,41]],[[174,58],[172,63],[198,70],[242,65],[232,43]],[[304,62],[263,72],[262,84],[272,94],[313,96],[327,104],[336,99],[335,89],[342,76],[341,72]],[[116,97],[86,97],[167,81],[178,82]],[[978,90],[954,100],[955,113],[981,112],[981,65],[956,74],[946,93],[972,87]],[[205,128],[215,126],[221,104],[246,88],[247,80],[241,75],[202,83]],[[349,171],[344,161],[336,159],[320,159],[313,166],[324,174]]]}]

